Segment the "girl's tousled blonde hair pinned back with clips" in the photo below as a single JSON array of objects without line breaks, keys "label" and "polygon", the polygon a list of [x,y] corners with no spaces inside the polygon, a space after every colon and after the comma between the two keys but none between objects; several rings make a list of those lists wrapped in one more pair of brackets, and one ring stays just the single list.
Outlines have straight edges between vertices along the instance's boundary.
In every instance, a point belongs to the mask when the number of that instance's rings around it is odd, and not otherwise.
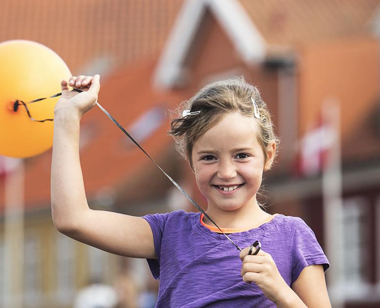
[{"label": "girl's tousled blonde hair pinned back with clips", "polygon": [[[253,118],[259,124],[258,140],[267,160],[267,148],[272,142],[279,144],[274,133],[274,125],[270,118],[267,104],[261,99],[259,90],[247,84],[244,77],[233,77],[209,84],[198,91],[192,98],[182,102],[172,113],[169,134],[176,141],[177,150],[185,157],[193,168],[191,154],[194,142],[205,132],[216,125],[226,114],[239,112],[245,116],[253,116],[254,107],[251,98],[256,102],[260,118]],[[183,110],[200,111],[199,114],[182,117]],[[179,116],[179,117],[176,117]],[[277,147],[276,153],[277,155]]]}]

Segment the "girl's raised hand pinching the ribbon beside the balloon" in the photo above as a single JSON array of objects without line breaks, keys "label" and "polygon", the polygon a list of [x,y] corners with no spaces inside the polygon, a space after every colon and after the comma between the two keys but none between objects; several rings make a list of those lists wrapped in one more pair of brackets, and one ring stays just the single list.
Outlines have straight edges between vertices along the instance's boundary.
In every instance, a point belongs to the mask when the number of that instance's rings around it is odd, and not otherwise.
[{"label": "girl's raised hand pinching the ribbon beside the balloon", "polygon": [[[80,89],[83,92],[70,91],[68,86]],[[62,96],[55,105],[54,115],[68,112],[78,115],[80,118],[95,106],[100,89],[100,75],[95,76],[72,76],[61,82]]]}]

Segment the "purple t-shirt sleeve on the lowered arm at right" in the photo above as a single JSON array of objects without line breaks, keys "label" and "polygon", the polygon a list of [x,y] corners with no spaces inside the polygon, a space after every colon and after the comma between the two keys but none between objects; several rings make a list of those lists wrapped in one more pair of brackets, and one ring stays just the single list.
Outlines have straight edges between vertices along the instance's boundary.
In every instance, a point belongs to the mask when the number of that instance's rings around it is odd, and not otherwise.
[{"label": "purple t-shirt sleeve on the lowered arm at right", "polygon": [[305,266],[316,264],[323,265],[325,272],[330,267],[313,230],[301,219],[291,243],[291,283],[297,280]]}]

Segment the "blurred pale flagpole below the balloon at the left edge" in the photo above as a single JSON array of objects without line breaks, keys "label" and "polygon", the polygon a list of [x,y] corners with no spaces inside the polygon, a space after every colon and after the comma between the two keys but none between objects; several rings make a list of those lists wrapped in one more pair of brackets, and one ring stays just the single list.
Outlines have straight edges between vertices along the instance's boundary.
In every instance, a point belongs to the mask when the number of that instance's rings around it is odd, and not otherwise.
[{"label": "blurred pale flagpole below the balloon at the left edge", "polygon": [[22,308],[24,248],[24,164],[5,157],[4,308]]}]

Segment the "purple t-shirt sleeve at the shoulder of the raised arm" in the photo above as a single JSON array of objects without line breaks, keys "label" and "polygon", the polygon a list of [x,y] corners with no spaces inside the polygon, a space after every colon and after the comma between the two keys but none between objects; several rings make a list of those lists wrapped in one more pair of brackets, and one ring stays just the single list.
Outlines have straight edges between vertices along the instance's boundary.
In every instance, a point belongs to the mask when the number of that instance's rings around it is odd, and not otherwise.
[{"label": "purple t-shirt sleeve at the shoulder of the raised arm", "polygon": [[161,242],[162,235],[165,229],[165,222],[169,216],[169,213],[166,214],[154,214],[154,215],[145,215],[142,218],[148,221],[151,226],[153,233],[153,241],[155,245],[155,252],[157,259],[147,259],[149,268],[152,272],[152,275],[155,279],[159,279],[159,264],[161,259]]}]

